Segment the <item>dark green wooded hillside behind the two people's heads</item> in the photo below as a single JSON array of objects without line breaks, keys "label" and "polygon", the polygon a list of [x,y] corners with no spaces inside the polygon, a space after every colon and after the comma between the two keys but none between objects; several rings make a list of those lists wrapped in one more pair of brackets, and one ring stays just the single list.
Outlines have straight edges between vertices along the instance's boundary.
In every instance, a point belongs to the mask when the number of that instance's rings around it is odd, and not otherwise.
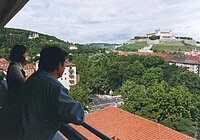
[{"label": "dark green wooded hillside behind the two people's heads", "polygon": [[[37,37],[34,38],[34,35]],[[46,44],[54,44],[67,52],[74,54],[96,53],[99,50],[99,48],[91,48],[81,44],[75,44],[78,47],[78,50],[69,50],[68,46],[73,43],[65,42],[54,36],[22,29],[0,29],[0,58],[6,58],[8,60],[10,50],[16,44],[25,45],[28,49],[28,56],[31,58],[34,58],[40,53],[42,47]]]}]

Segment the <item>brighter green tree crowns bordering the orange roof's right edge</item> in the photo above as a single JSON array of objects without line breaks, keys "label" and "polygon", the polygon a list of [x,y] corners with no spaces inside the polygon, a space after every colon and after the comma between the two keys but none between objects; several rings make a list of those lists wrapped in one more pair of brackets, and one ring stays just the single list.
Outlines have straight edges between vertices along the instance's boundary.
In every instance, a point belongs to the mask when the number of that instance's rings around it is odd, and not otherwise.
[{"label": "brighter green tree crowns bordering the orange roof's right edge", "polygon": [[120,108],[187,135],[197,134],[194,124],[199,121],[200,100],[186,86],[170,87],[162,81],[145,88],[128,80],[121,87],[121,95],[124,104]]}]

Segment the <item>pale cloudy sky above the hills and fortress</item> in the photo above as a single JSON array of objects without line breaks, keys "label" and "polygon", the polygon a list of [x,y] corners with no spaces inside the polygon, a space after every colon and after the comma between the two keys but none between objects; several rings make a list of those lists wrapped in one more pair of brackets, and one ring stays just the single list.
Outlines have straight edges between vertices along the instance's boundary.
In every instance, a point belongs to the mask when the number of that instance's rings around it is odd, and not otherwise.
[{"label": "pale cloudy sky above the hills and fortress", "polygon": [[6,27],[73,43],[123,43],[156,29],[200,41],[200,0],[29,0]]}]

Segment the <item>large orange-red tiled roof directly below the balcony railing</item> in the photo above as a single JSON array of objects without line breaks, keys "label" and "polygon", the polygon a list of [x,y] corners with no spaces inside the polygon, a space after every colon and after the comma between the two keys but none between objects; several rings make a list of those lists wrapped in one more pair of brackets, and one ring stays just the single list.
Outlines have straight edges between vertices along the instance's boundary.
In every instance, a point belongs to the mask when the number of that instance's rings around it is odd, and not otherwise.
[{"label": "large orange-red tiled roof directly below the balcony railing", "polygon": [[[86,115],[85,122],[115,140],[194,140],[166,126],[112,106]],[[89,140],[99,139],[82,126],[70,125]]]}]

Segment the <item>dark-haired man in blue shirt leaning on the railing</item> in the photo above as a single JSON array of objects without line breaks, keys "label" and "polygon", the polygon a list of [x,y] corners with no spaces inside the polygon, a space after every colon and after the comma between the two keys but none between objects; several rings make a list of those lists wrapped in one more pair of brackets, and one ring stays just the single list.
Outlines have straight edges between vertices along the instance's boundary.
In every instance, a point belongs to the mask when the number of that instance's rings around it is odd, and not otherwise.
[{"label": "dark-haired man in blue shirt leaning on the railing", "polygon": [[42,50],[39,70],[27,80],[21,100],[0,116],[0,139],[51,140],[61,123],[84,122],[81,104],[57,80],[63,74],[66,55],[58,47]]}]

